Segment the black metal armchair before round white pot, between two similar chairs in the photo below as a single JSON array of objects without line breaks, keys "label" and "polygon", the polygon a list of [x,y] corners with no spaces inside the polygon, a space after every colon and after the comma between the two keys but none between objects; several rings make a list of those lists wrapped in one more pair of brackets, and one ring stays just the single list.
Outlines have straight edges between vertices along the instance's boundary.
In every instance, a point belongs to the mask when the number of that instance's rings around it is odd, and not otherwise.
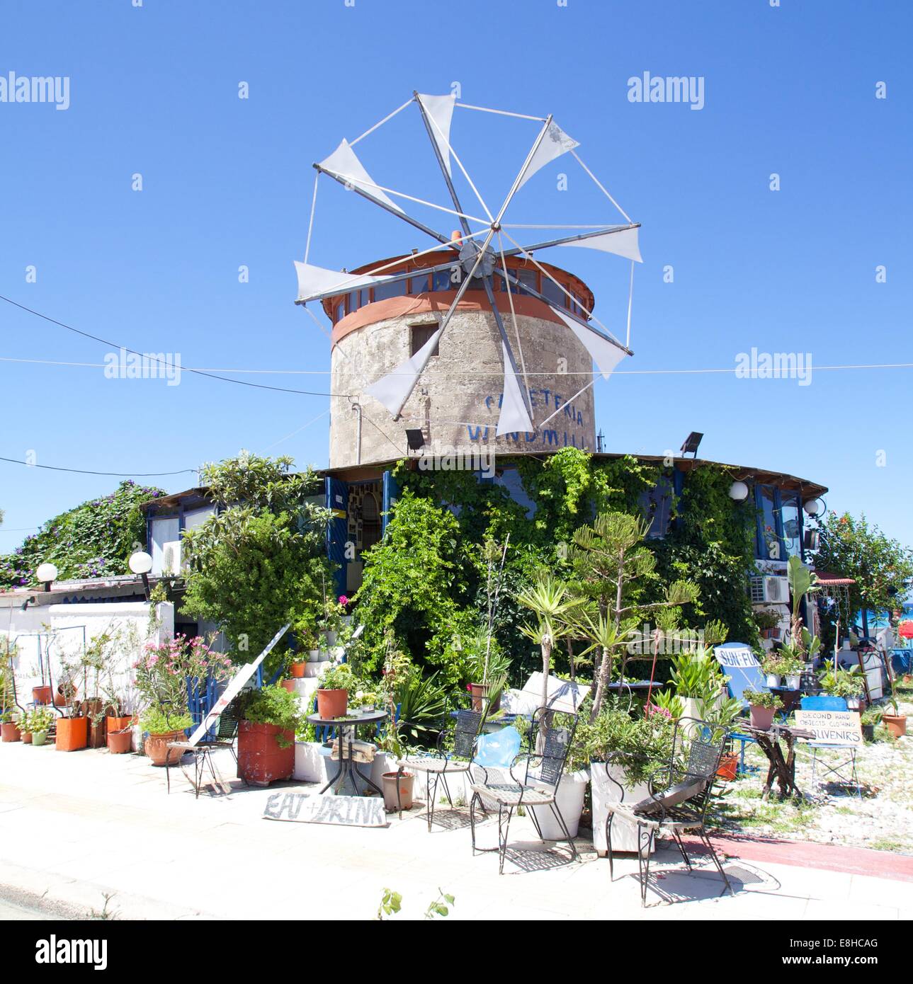
[{"label": "black metal armchair before round white pot, between two similar chairs", "polygon": [[[568,863],[577,860],[577,848],[574,839],[567,830],[564,818],[558,810],[555,799],[561,773],[567,761],[567,753],[573,742],[577,729],[577,715],[561,713],[566,718],[566,727],[555,726],[554,715],[557,711],[548,707],[540,707],[533,714],[529,730],[529,752],[518,755],[509,767],[512,782],[489,781],[489,769],[474,761],[472,766],[482,771],[482,780],[471,783],[473,798],[470,802],[469,818],[472,830],[473,856],[477,851],[497,851],[499,855],[498,873],[504,874],[504,856],[507,852],[507,835],[510,830],[510,820],[519,807],[548,807],[552,812],[558,827],[570,846]],[[475,753],[474,753],[475,760]],[[490,767],[489,767],[490,768]],[[522,769],[522,777],[520,777]],[[485,800],[497,806],[497,847],[476,846],[476,808],[487,813]],[[536,811],[530,810],[533,824],[541,840],[542,828],[536,817]]]}]

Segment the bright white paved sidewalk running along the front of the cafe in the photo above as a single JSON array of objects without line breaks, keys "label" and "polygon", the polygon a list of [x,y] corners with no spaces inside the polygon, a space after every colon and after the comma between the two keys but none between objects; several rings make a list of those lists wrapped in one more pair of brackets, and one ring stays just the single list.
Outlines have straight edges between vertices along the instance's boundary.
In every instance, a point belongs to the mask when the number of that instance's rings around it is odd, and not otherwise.
[{"label": "bright white paved sidewalk running along the front of the cafe", "polygon": [[[618,861],[610,883],[608,862],[583,837],[580,861],[562,864],[566,854],[519,818],[499,877],[494,854],[472,856],[465,808],[441,810],[447,826],[430,834],[418,809],[402,821],[392,815],[385,829],[278,823],[262,819],[267,797],[300,784],[246,789],[227,752],[216,761],[229,791],[195,800],[179,771],[166,795],[163,769],[145,758],[0,746],[0,887],[43,896],[58,911],[119,919],[369,919],[384,888],[403,896],[398,920],[421,918],[438,889],[456,896],[449,919],[913,918],[909,859],[880,852],[843,858],[843,871],[825,856],[802,866],[795,844],[779,863],[775,843],[758,853],[728,840],[726,870],[738,891],[721,897],[706,858],[688,875],[678,851],[662,848],[648,893],[656,904],[641,909],[636,860]],[[479,835],[493,845],[495,825]],[[867,855],[887,862],[886,872],[872,868],[882,877],[860,874],[870,870]],[[883,877],[893,870],[901,877]]]}]

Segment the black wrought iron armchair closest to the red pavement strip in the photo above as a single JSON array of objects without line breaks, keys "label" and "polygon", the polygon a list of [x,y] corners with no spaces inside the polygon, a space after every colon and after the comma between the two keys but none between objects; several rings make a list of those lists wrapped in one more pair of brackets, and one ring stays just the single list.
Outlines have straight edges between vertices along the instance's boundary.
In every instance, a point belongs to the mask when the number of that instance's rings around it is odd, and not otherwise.
[{"label": "black wrought iron armchair closest to the red pavement strip", "polygon": [[[691,862],[685,851],[682,834],[696,833],[710,853],[717,871],[723,878],[730,894],[735,890],[723,869],[713,844],[707,836],[705,820],[710,793],[720,768],[720,760],[726,750],[729,731],[727,728],[699,720],[695,717],[680,717],[673,731],[673,748],[669,761],[662,762],[662,769],[648,782],[650,793],[637,803],[609,803],[606,818],[606,844],[609,854],[609,879],[615,881],[614,855],[612,852],[612,822],[616,816],[637,826],[637,874],[640,879],[640,904],[647,904],[647,882],[650,876],[650,853],[658,833],[671,834],[674,838],[688,871]],[[633,756],[630,753],[613,753],[608,756],[608,766],[615,762],[629,764],[632,760],[643,764],[659,760]],[[620,790],[623,800],[624,789],[621,783],[609,775]],[[725,891],[725,889],[724,889]]]}]

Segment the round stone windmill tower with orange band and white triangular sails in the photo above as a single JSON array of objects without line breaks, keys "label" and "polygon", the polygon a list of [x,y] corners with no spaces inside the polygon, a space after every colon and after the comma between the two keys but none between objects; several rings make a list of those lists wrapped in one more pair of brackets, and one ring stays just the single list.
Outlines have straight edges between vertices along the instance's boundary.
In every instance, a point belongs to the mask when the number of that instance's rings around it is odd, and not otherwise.
[{"label": "round stone windmill tower with orange band and white triangular sails", "polygon": [[[376,126],[352,144],[344,140],[314,164],[317,179],[321,174],[333,178],[435,241],[424,250],[350,273],[315,267],[307,262],[312,207],[304,262],[295,263],[296,303],[320,301],[333,325],[330,466],[405,457],[407,430],[414,437],[421,431],[422,453],[432,456],[483,449],[595,450],[592,388],[632,354],[630,293],[622,343],[593,316],[594,296],[587,284],[544,262],[539,253],[554,247],[613,253],[630,260],[632,284],[633,264],[640,262],[638,223],[621,212],[580,161],[577,143],[551,116],[520,117],[538,121],[539,132],[492,215],[450,144],[454,108],[463,104],[453,95],[414,93],[377,126],[412,104],[419,108],[452,208],[395,192],[370,178],[353,145]],[[580,161],[625,221],[560,226],[562,232],[573,231],[521,246],[512,230],[529,226],[505,222],[508,207],[536,171],[567,153]],[[487,217],[464,211],[453,181],[453,161]],[[314,203],[316,193],[315,179]],[[431,228],[408,215],[390,195],[456,216],[460,228],[449,234]]]}]

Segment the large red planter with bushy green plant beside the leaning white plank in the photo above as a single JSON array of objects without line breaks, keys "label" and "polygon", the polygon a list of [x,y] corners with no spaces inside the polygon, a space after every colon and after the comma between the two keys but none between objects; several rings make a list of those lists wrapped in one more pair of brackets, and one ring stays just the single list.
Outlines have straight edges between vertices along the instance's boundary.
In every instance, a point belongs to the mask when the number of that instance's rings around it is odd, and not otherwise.
[{"label": "large red planter with bushy green plant beside the leaning white plank", "polygon": [[237,776],[254,786],[292,778],[297,694],[279,684],[244,691],[237,704]]}]

